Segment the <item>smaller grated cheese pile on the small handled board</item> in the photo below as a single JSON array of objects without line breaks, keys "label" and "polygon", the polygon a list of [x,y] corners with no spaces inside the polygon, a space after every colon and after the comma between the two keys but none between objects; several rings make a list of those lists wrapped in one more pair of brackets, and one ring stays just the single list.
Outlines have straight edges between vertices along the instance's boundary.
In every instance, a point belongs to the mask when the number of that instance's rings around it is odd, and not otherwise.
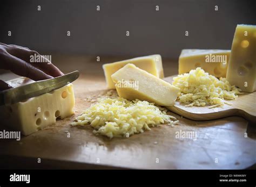
[{"label": "smaller grated cheese pile on the small handled board", "polygon": [[203,69],[197,68],[190,73],[178,75],[173,78],[173,85],[180,88],[178,99],[180,103],[190,106],[211,107],[230,104],[225,99],[237,99],[241,90],[231,86],[226,78],[209,75]]}]

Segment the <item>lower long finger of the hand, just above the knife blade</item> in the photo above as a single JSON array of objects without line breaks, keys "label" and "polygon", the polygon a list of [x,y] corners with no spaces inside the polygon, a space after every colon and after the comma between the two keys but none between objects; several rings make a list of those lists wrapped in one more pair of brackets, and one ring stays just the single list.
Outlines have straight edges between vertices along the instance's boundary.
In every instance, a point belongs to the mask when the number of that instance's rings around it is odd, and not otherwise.
[{"label": "lower long finger of the hand, just above the knife blade", "polygon": [[11,54],[5,55],[3,62],[5,62],[3,66],[4,69],[9,69],[19,76],[28,77],[34,81],[53,78],[52,76],[44,73],[42,70],[32,66],[30,63],[27,63]]}]

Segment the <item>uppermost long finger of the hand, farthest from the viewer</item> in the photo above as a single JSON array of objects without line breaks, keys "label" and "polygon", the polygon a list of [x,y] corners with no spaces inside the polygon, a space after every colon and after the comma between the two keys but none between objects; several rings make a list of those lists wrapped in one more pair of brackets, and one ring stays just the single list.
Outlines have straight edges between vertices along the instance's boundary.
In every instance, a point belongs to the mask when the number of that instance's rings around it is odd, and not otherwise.
[{"label": "uppermost long finger of the hand, farthest from the viewer", "polygon": [[[56,66],[54,66],[51,61],[46,59],[44,56],[40,55],[36,51],[31,51],[30,49],[22,48],[20,46],[10,46],[7,51],[19,57],[20,59],[30,63],[32,66],[35,66],[38,69],[44,71],[44,73],[49,74],[53,77],[64,75]],[[33,57],[39,56],[41,62],[30,62]],[[35,60],[35,59],[34,59]]]}]

